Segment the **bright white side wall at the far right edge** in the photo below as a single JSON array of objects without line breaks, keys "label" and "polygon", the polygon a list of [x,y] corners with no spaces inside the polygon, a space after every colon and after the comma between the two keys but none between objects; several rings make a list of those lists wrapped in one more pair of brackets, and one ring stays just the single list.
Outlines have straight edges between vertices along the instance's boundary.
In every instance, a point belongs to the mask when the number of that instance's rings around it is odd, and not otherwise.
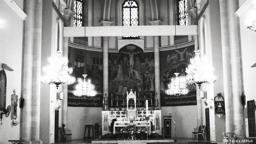
[{"label": "bright white side wall at the far right edge", "polygon": [[256,10],[251,7],[240,16],[242,73],[246,102],[256,99],[256,68],[251,67],[256,62],[256,32],[246,28],[251,25],[253,20],[256,20],[255,13]]}]

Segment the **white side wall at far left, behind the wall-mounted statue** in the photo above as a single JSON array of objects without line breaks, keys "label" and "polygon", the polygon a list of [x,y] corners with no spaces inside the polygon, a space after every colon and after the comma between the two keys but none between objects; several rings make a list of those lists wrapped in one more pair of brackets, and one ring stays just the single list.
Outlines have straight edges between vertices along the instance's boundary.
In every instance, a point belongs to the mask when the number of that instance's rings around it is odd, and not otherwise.
[{"label": "white side wall at far left, behind the wall-mounted statue", "polygon": [[[23,0],[20,7],[23,8]],[[0,65],[5,63],[14,71],[4,69],[7,76],[6,107],[11,105],[11,94],[16,90],[18,99],[21,89],[21,68],[22,68],[22,37],[23,20],[4,1],[0,1]],[[2,69],[2,67],[0,67]],[[17,107],[20,122],[20,108]],[[3,111],[0,111],[3,112]],[[19,140],[20,124],[12,125],[11,114],[8,118],[3,115],[3,124],[0,125],[0,143],[6,144],[8,140]]]}]

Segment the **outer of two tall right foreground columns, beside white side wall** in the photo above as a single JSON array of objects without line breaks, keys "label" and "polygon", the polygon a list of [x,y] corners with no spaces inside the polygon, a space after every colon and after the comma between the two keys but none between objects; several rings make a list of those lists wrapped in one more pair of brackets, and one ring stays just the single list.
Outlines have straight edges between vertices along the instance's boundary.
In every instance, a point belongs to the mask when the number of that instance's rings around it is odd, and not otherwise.
[{"label": "outer of two tall right foreground columns, beside white side wall", "polygon": [[233,125],[234,133],[238,139],[244,138],[244,106],[241,103],[242,87],[242,62],[241,62],[241,39],[240,20],[235,12],[238,10],[238,0],[227,1],[227,11],[229,14],[229,41],[231,55],[231,75],[233,91]]}]

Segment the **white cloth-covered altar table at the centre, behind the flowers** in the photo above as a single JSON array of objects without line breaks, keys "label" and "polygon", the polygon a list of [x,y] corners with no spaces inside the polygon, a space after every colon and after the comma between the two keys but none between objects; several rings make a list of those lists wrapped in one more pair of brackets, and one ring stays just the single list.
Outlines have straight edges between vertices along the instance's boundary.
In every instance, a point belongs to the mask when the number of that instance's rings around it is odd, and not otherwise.
[{"label": "white cloth-covered altar table at the centre, behind the flowers", "polygon": [[[116,133],[116,127],[126,127],[130,124],[130,122],[128,121],[115,121],[114,122],[114,129],[113,129],[113,133]],[[135,129],[136,127],[147,127],[147,121],[133,121],[133,124],[135,125]],[[148,130],[149,133],[151,133],[151,124],[150,121],[148,121]]]}]

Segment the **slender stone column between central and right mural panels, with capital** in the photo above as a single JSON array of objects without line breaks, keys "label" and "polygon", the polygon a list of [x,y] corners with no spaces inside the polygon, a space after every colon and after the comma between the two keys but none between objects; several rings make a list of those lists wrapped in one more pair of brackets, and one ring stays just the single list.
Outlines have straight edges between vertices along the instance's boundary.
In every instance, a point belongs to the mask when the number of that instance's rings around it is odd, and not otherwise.
[{"label": "slender stone column between central and right mural panels, with capital", "polygon": [[[152,26],[161,25],[161,20],[154,20],[149,22]],[[160,50],[159,50],[159,36],[154,36],[154,62],[155,62],[155,95],[158,96],[159,109],[161,108],[160,97]]]}]

